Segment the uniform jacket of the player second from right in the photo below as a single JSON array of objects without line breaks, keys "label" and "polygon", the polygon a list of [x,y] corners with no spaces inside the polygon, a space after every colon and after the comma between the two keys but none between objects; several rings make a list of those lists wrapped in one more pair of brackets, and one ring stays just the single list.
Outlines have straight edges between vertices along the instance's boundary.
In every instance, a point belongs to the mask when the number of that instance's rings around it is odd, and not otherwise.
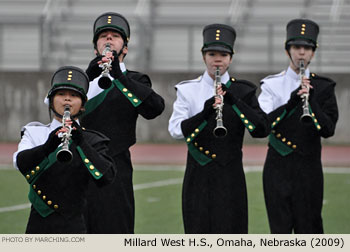
[{"label": "uniform jacket of the player second from right", "polygon": [[[184,138],[189,153],[199,164],[217,162],[226,165],[231,159],[241,156],[245,129],[253,137],[265,137],[269,124],[266,114],[260,109],[255,97],[256,87],[245,80],[230,78],[226,72],[221,77],[235,103],[224,97],[223,122],[227,136],[216,138],[216,113],[213,109],[209,118],[202,114],[205,101],[214,95],[214,81],[207,72],[196,80],[176,85],[177,99],[169,121],[169,132],[176,138]],[[232,99],[231,99],[232,100]]]}]

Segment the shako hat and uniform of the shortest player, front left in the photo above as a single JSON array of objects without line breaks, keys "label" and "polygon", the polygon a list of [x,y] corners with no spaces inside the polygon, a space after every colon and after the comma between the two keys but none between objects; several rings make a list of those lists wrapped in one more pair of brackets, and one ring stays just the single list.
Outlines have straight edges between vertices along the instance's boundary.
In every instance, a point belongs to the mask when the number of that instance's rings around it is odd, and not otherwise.
[{"label": "shako hat and uniform of the shortest player, front left", "polygon": [[[76,67],[62,67],[52,77],[48,94],[50,109],[53,96],[60,89],[80,93],[86,101],[88,77]],[[61,115],[62,116],[62,115]],[[113,160],[107,155],[109,139],[104,135],[82,129],[77,122],[72,131],[69,150],[73,159],[58,162],[56,153],[62,148],[55,135],[62,123],[53,119],[51,124],[32,122],[22,129],[22,139],[14,154],[14,165],[30,184],[32,203],[26,233],[86,233],[84,211],[87,207],[89,181],[103,186],[115,178]]]}]

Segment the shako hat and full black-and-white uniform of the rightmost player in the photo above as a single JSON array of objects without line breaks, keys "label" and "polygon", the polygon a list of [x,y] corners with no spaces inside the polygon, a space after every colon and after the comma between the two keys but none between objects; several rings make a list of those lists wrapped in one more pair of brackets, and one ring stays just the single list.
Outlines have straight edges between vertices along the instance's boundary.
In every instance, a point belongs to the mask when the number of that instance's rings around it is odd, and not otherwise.
[{"label": "shako hat and full black-and-white uniform of the rightmost player", "polygon": [[[315,50],[318,32],[318,25],[311,20],[290,21],[286,50],[291,45],[311,46]],[[272,123],[263,171],[272,233],[323,233],[321,137],[334,134],[338,108],[333,80],[310,73],[308,69],[305,76],[313,86],[309,96],[309,123],[300,120],[302,99],[296,95],[300,76],[291,67],[261,82],[259,103]]]}]

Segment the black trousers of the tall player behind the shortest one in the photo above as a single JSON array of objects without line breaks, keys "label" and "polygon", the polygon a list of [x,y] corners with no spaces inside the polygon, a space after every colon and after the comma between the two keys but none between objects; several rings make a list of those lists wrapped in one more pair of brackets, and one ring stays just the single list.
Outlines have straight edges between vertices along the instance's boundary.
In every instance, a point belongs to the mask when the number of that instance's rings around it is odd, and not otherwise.
[{"label": "black trousers of the tall player behind the shortest one", "polygon": [[86,220],[90,234],[132,234],[135,223],[133,168],[129,150],[113,156],[117,176],[112,184],[89,184]]}]

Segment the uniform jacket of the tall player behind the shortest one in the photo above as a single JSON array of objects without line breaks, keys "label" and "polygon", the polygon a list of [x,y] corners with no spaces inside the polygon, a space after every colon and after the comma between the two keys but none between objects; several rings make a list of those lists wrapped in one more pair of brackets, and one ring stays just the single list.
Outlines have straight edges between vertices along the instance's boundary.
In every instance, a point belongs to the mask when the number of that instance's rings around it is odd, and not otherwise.
[{"label": "uniform jacket of the tall player behind the shortest one", "polygon": [[[164,110],[164,100],[152,90],[145,74],[128,71],[121,63],[124,76],[113,81],[109,89],[90,82],[86,112],[82,125],[97,130],[111,139],[110,153],[118,154],[136,142],[136,120],[139,115],[153,119]],[[112,77],[110,77],[113,79]]]}]

